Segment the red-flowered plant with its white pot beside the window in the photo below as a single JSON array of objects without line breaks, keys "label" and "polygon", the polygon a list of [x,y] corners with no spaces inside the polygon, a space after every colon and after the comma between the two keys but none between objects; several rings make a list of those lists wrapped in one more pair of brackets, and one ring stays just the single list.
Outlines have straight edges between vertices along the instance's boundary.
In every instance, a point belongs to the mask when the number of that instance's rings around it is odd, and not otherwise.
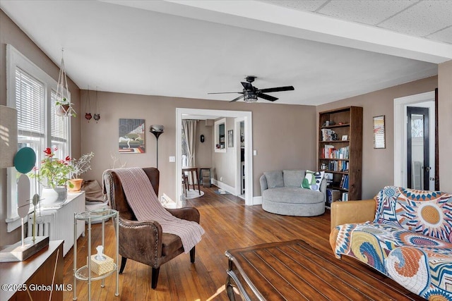
[{"label": "red-flowered plant with its white pot beside the window", "polygon": [[[73,165],[71,164],[71,157],[66,156],[65,159],[55,158],[55,153],[58,149],[44,150],[45,157],[41,161],[41,167],[35,168],[35,171],[30,173],[31,178],[37,178],[44,188],[42,189],[41,204],[58,205],[66,201],[67,189],[66,185],[71,178],[73,172]],[[71,186],[71,183],[69,183]]]}]

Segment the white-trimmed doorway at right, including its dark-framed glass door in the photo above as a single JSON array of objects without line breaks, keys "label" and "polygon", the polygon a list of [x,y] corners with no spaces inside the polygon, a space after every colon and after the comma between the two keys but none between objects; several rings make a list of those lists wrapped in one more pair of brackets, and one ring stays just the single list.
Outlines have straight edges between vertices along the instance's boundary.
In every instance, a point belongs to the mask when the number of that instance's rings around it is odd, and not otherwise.
[{"label": "white-trimmed doorway at right, including its dark-framed glass door", "polygon": [[434,91],[394,99],[394,185],[434,190],[435,131]]}]

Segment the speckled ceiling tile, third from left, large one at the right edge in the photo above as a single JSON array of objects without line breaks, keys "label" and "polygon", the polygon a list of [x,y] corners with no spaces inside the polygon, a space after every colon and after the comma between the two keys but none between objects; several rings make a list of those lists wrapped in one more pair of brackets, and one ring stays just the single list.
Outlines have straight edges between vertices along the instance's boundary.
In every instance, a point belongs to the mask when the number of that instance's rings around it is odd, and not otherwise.
[{"label": "speckled ceiling tile, third from left, large one at the right edge", "polygon": [[434,5],[431,2],[419,2],[379,26],[407,35],[427,37],[452,25],[452,1],[434,1]]}]

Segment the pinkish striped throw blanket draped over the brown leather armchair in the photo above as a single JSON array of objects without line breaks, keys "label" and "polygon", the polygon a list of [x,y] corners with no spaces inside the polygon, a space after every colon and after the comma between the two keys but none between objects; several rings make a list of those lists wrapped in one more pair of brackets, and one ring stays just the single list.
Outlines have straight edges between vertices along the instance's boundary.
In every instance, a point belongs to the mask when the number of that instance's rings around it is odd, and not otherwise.
[{"label": "pinkish striped throw blanket draped over the brown leather armchair", "polygon": [[153,185],[142,168],[118,168],[114,170],[121,180],[127,202],[138,221],[157,221],[164,233],[175,234],[182,240],[184,252],[201,241],[204,229],[196,221],[178,219],[159,202]]}]

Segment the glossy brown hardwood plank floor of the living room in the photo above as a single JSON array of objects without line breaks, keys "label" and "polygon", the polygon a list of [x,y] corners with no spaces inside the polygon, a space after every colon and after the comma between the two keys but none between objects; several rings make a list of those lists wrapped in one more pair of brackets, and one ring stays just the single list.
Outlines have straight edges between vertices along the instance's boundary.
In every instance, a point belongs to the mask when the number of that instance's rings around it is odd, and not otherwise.
[{"label": "glossy brown hardwood plank floor of the living room", "polygon": [[[263,211],[260,205],[244,206],[244,200],[232,195],[218,195],[217,188],[201,188],[205,194],[185,201],[185,206],[196,207],[201,213],[201,226],[206,230],[196,245],[196,262],[190,263],[189,254],[181,254],[160,268],[157,289],[150,288],[149,266],[129,260],[124,273],[119,275],[119,296],[114,296],[114,276],[93,282],[92,300],[228,300],[225,292],[227,257],[225,251],[265,242],[301,239],[333,257],[329,245],[330,214],[322,216],[280,216]],[[100,224],[93,226],[93,250],[101,244]],[[114,254],[114,228],[106,226],[106,254]],[[86,262],[87,238],[78,239],[78,262]],[[381,283],[381,288],[396,288],[407,294],[406,300],[421,300],[391,279],[359,262],[343,258],[367,277]],[[327,262],[327,261],[326,261]],[[325,263],[326,263],[325,262]],[[64,283],[73,283],[73,251],[64,258]],[[77,282],[78,300],[87,300],[88,285]],[[375,285],[374,288],[375,290]],[[347,293],[347,292],[345,292]],[[338,295],[339,297],[339,295]],[[73,300],[73,292],[65,292],[64,300]],[[339,300],[339,299],[338,299]],[[378,299],[377,299],[378,300]],[[386,299],[381,299],[386,300]],[[400,299],[399,299],[400,300]]]}]

